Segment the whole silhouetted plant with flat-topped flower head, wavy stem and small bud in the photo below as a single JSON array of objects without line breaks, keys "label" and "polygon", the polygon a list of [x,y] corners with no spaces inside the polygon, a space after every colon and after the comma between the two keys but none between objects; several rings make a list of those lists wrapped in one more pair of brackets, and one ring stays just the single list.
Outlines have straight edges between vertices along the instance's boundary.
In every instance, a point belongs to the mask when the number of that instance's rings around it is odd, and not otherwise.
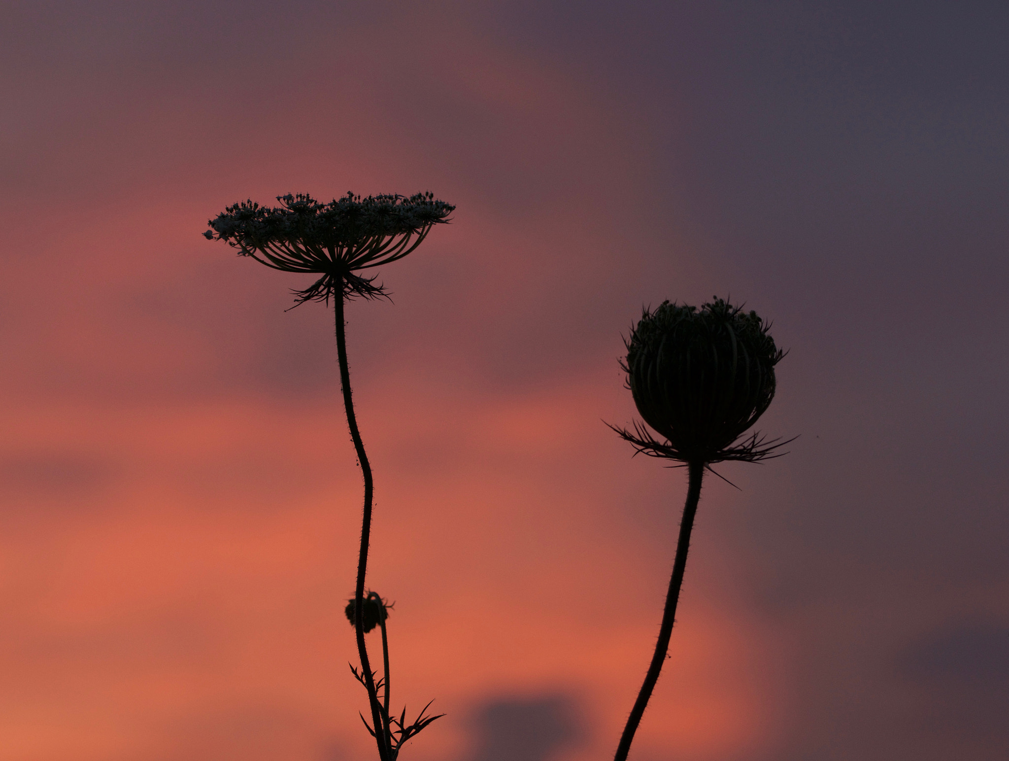
[{"label": "whole silhouetted plant with flat-topped flower head, wavy stem and small bud", "polygon": [[[353,666],[351,669],[368,693],[371,727],[375,728],[369,728],[368,731],[375,738],[379,759],[395,761],[402,743],[437,717],[424,721],[418,719],[409,728],[403,726],[406,714],[399,722],[388,719],[388,652],[384,626],[384,616],[387,614],[380,597],[370,593],[366,602],[364,596],[373,481],[371,466],[364,452],[354,415],[350,367],[347,362],[344,302],[355,296],[364,299],[385,296],[382,287],[374,285],[374,277],[366,278],[357,273],[406,256],[421,244],[432,227],[448,222],[455,207],[436,200],[430,193],[419,193],[409,198],[399,195],[361,198],[348,193],[339,200],[334,199],[325,204],[302,194],[278,196],[276,200],[282,205],[274,208],[259,206],[252,201],[230,206],[208,222],[211,229],[204,235],[209,240],[225,240],[238,249],[239,255],[251,256],[274,269],[320,276],[309,288],[294,292],[298,297],[296,306],[306,301],[329,304],[330,297],[333,297],[343,406],[350,438],[364,477],[361,544],[352,601],[354,605],[351,608],[361,670],[357,672]],[[374,599],[377,599],[377,603]],[[365,631],[374,628],[374,623],[365,628],[365,611],[368,605],[377,605],[382,616],[379,623],[385,661],[384,705],[378,700],[380,685],[375,684],[364,643]],[[394,731],[394,727],[399,727],[399,730]]]}]

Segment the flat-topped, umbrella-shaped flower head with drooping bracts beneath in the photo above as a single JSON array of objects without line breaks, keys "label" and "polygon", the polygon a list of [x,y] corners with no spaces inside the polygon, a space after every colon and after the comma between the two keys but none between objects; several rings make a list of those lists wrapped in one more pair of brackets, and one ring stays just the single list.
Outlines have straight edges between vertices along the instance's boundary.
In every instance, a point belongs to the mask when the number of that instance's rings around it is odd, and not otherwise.
[{"label": "flat-topped, umbrella-shaped flower head with drooping bracts beneath", "polygon": [[329,203],[304,194],[277,196],[281,206],[243,201],[208,222],[209,240],[225,240],[239,255],[274,269],[322,277],[296,292],[300,301],[381,295],[362,269],[387,264],[417,248],[454,206],[431,193],[361,198],[352,193]]}]

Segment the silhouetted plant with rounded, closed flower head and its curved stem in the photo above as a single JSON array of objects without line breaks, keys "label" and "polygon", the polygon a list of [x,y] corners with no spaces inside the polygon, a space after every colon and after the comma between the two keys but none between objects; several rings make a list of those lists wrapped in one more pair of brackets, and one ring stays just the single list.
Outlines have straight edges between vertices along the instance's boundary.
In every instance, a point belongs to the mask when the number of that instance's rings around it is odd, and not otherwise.
[{"label": "silhouetted plant with rounded, closed flower head and its curved stem", "polygon": [[614,761],[627,759],[666,660],[704,470],[725,460],[777,457],[778,447],[787,443],[756,433],[744,438],[774,399],[774,366],[784,356],[769,328],[756,312],[744,312],[721,299],[699,311],[666,301],[654,312],[644,311],[627,341],[627,362],[621,367],[628,373],[628,388],[645,423],[662,438],[637,422],[631,431],[610,428],[634,445],[636,454],[686,467],[688,486],[655,654]]}]

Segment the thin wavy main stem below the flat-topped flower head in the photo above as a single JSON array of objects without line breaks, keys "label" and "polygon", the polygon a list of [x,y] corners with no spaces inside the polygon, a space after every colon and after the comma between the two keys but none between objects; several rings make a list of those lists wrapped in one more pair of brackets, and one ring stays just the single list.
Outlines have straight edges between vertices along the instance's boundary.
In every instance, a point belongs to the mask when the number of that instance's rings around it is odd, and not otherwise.
[{"label": "thin wavy main stem below the flat-topped flower head", "polygon": [[371,536],[371,499],[374,488],[371,479],[371,465],[364,453],[360,431],[357,430],[357,418],[354,415],[354,401],[350,393],[350,366],[347,363],[347,336],[344,330],[344,298],[342,289],[335,294],[334,311],[336,312],[336,352],[340,361],[340,387],[343,390],[343,407],[347,413],[347,427],[350,428],[350,438],[354,442],[357,461],[364,474],[364,518],[361,523],[361,549],[357,559],[357,585],[354,588],[354,632],[357,635],[357,654],[361,659],[361,671],[364,676],[364,686],[368,690],[368,702],[371,705],[371,726],[374,728],[375,742],[378,745],[378,757],[381,761],[391,761],[384,723],[381,720],[381,710],[378,694],[375,690],[374,677],[371,674],[371,664],[368,662],[368,650],[364,645],[364,573],[368,565],[368,541]]}]

